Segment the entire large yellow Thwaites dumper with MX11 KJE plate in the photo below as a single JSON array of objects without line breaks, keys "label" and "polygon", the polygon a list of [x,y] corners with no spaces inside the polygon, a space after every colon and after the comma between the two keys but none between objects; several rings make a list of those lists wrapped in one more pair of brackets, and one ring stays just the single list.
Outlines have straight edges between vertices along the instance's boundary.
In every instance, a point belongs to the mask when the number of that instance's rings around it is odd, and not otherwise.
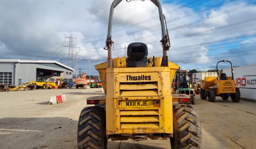
[{"label": "entire large yellow Thwaites dumper with MX11 KJE plate", "polygon": [[[158,0],[150,0],[159,10],[163,57],[147,57],[144,43],[131,43],[128,57],[112,59],[111,39],[114,0],[110,8],[106,48],[107,62],[98,64],[105,96],[87,98],[78,121],[79,149],[107,149],[107,139],[136,141],[170,138],[173,149],[201,149],[201,124],[190,98],[173,98],[171,83],[178,65],[169,62],[170,47],[164,15]],[[182,94],[185,96],[185,94]]]}]

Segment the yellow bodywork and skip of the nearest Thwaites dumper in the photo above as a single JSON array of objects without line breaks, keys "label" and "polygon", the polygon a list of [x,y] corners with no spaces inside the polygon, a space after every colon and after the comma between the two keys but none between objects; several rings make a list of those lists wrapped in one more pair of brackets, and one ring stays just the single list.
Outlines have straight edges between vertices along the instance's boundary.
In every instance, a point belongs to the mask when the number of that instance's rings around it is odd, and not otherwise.
[{"label": "yellow bodywork and skip of the nearest Thwaites dumper", "polygon": [[161,60],[155,59],[156,67],[126,68],[121,57],[113,59],[114,68],[107,68],[107,62],[95,66],[106,93],[107,135],[173,134],[171,83],[179,66],[169,62],[160,67]]}]

